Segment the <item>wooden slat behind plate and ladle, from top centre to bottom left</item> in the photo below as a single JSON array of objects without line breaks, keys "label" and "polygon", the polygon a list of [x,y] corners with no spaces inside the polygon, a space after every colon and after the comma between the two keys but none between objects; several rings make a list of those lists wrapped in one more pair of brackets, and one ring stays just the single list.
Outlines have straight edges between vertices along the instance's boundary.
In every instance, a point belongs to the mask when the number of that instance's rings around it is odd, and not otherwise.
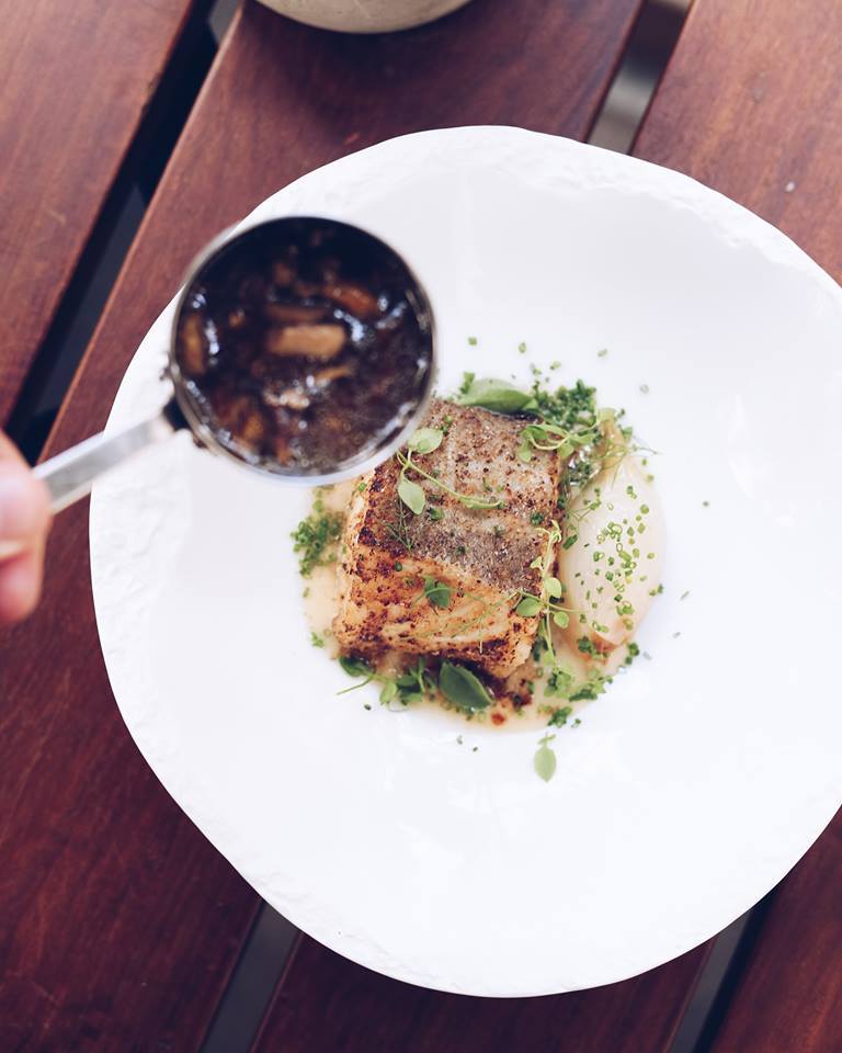
[{"label": "wooden slat behind plate and ladle, from top centre to bottom left", "polygon": [[[475,0],[436,25],[367,39],[248,4],[46,453],[102,426],[134,349],[212,235],[316,165],[401,132],[488,122],[582,136],[637,4],[522,0],[513,23],[510,0]],[[257,897],[170,801],[120,720],[87,546],[78,506],[54,528],[45,602],[0,636],[0,1048],[190,1051]],[[296,970],[296,981],[318,1005],[320,977]],[[351,982],[380,983],[362,970]],[[685,985],[682,971],[674,990]]]}]

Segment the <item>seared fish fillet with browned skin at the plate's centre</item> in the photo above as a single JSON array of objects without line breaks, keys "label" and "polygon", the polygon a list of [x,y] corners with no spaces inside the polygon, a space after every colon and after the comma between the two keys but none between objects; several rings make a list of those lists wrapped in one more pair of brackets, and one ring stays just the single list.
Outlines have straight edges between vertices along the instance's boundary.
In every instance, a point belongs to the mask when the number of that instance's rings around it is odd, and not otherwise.
[{"label": "seared fish fillet with browned skin at the plate's centre", "polygon": [[[398,498],[397,460],[380,465],[349,510],[333,632],[345,653],[436,655],[502,678],[528,658],[535,638],[537,619],[514,608],[521,592],[541,590],[541,573],[530,564],[546,543],[536,522],[559,514],[558,457],[535,451],[520,461],[523,422],[485,409],[434,400],[424,426],[447,433],[437,450],[416,456],[418,464],[459,494],[504,507],[466,508],[410,472],[428,499],[416,516]],[[424,595],[425,577],[450,587],[446,608]]]}]

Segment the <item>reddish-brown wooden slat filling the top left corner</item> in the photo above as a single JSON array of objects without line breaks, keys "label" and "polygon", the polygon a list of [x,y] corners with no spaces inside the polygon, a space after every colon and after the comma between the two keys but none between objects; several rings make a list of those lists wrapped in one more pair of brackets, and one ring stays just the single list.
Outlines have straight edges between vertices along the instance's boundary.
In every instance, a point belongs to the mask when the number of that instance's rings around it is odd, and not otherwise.
[{"label": "reddish-brown wooden slat filling the top left corner", "polygon": [[194,7],[0,0],[0,426]]}]

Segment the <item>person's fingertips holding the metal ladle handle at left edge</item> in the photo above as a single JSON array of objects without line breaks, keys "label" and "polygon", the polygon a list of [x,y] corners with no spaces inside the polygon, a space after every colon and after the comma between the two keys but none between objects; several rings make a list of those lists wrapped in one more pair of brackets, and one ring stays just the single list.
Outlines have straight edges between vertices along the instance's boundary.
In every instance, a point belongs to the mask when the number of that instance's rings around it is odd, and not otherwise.
[{"label": "person's fingertips holding the metal ladle handle at left edge", "polygon": [[46,487],[0,432],[0,625],[38,602],[49,522]]}]

